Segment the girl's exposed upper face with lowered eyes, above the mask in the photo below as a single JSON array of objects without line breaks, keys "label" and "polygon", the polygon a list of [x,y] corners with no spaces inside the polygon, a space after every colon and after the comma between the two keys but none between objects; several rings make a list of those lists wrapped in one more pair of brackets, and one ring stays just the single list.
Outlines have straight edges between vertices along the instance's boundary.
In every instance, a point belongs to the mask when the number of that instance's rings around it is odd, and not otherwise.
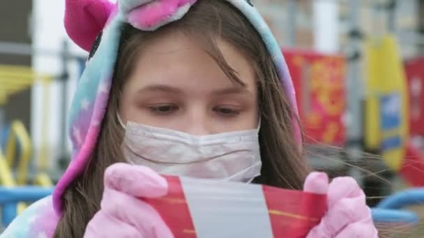
[{"label": "girl's exposed upper face with lowered eyes, above the mask", "polygon": [[193,135],[256,128],[255,70],[232,45],[218,40],[218,47],[245,86],[183,33],[167,33],[142,48],[123,86],[122,120]]}]

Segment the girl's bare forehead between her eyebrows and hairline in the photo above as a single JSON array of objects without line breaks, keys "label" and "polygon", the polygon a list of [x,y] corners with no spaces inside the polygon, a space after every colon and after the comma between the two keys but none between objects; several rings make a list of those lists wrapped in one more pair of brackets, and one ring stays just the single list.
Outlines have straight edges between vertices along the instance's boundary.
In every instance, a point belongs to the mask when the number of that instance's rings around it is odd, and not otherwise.
[{"label": "girl's bare forehead between her eyebrows and hairline", "polygon": [[[229,67],[248,90],[256,90],[255,68],[236,47],[217,40],[217,47]],[[199,44],[182,33],[162,35],[143,45],[130,75],[131,85],[159,84],[198,91],[234,88],[234,83]]]}]

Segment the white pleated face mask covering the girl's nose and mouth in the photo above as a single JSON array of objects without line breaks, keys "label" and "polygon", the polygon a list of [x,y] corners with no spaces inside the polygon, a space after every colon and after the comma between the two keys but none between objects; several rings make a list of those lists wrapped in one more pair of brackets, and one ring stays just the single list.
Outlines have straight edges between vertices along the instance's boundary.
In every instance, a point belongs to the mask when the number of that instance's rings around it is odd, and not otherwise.
[{"label": "white pleated face mask covering the girl's nose and mouth", "polygon": [[261,174],[259,127],[192,136],[135,122],[121,125],[126,129],[123,154],[132,164],[148,166],[165,175],[235,182],[252,182]]}]

